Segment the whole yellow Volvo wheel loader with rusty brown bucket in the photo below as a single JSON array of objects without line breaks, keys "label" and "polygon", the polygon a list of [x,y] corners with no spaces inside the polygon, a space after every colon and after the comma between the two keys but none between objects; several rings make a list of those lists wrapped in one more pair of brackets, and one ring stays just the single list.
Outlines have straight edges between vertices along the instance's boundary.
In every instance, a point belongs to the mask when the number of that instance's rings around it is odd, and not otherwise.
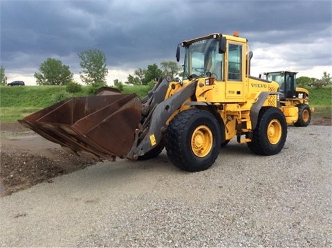
[{"label": "whole yellow Volvo wheel loader with rusty brown bucket", "polygon": [[178,44],[183,80],[160,78],[145,98],[102,91],[69,98],[19,122],[76,154],[96,160],[140,160],[166,148],[188,171],[210,168],[236,137],[259,155],[278,154],[287,125],[297,119],[281,100],[280,85],[250,76],[247,39],[214,33]]}]

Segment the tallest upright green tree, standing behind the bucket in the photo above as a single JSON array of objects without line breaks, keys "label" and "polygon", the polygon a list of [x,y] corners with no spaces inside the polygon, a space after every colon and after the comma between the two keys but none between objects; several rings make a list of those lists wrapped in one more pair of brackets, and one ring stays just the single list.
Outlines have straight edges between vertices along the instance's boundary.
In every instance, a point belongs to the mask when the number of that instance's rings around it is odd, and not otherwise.
[{"label": "tallest upright green tree, standing behind the bucket", "polygon": [[83,71],[80,78],[86,85],[107,85],[106,76],[109,73],[106,68],[106,56],[98,49],[89,49],[78,53]]}]

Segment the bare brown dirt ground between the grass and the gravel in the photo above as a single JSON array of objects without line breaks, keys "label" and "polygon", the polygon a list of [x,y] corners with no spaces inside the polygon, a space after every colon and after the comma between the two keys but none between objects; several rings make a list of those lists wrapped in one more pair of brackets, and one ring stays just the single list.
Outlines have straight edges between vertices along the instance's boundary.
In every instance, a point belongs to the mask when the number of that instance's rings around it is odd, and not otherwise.
[{"label": "bare brown dirt ground between the grass and the gravel", "polygon": [[[311,125],[332,125],[331,118],[313,115]],[[1,124],[0,196],[95,164],[62,148],[19,123]]]}]

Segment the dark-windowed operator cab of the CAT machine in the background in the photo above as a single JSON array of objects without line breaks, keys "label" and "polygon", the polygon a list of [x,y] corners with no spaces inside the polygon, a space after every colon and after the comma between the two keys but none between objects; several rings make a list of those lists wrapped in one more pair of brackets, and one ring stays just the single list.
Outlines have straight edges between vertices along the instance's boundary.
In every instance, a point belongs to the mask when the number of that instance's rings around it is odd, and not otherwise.
[{"label": "dark-windowed operator cab of the CAT machine in the background", "polygon": [[296,74],[292,71],[266,72],[266,80],[275,81],[280,85],[279,91],[282,92],[282,100],[296,97]]}]

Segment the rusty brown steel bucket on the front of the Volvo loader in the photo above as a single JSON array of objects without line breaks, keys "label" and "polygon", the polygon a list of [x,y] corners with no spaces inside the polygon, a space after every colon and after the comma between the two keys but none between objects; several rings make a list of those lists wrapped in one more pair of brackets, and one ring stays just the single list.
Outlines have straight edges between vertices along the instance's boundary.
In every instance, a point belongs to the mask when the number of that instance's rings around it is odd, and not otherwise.
[{"label": "rusty brown steel bucket on the front of the Volvo loader", "polygon": [[19,123],[77,154],[114,160],[131,150],[141,112],[142,103],[136,94],[75,97],[26,116]]}]

